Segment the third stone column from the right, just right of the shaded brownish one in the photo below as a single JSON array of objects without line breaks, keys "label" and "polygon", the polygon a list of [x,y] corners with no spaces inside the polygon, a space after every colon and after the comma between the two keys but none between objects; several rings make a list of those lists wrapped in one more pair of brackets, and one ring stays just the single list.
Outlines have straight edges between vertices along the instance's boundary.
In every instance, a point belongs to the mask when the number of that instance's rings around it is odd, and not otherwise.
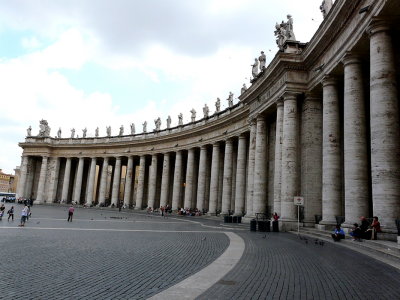
[{"label": "third stone column from the right, just right of the shaded brownish one", "polygon": [[322,85],[322,221],[320,224],[336,224],[335,216],[342,215],[339,95],[336,78],[327,76]]}]

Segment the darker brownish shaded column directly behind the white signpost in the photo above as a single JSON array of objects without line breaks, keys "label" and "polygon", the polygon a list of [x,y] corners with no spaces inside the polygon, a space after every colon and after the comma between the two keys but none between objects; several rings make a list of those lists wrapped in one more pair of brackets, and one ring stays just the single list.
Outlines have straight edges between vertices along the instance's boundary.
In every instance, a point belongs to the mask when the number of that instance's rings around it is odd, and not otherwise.
[{"label": "darker brownish shaded column directly behind the white signpost", "polygon": [[315,222],[322,214],[322,99],[306,93],[301,122],[301,193],[304,221]]}]

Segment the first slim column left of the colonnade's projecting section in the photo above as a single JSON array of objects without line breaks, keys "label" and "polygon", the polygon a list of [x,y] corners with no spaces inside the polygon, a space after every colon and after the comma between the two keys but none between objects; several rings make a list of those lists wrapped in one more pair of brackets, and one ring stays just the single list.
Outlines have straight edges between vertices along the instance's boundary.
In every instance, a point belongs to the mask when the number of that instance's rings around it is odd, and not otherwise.
[{"label": "first slim column left of the colonnade's projecting section", "polygon": [[236,164],[236,188],[235,188],[235,215],[243,216],[244,198],[246,194],[246,135],[239,136],[238,155]]}]

